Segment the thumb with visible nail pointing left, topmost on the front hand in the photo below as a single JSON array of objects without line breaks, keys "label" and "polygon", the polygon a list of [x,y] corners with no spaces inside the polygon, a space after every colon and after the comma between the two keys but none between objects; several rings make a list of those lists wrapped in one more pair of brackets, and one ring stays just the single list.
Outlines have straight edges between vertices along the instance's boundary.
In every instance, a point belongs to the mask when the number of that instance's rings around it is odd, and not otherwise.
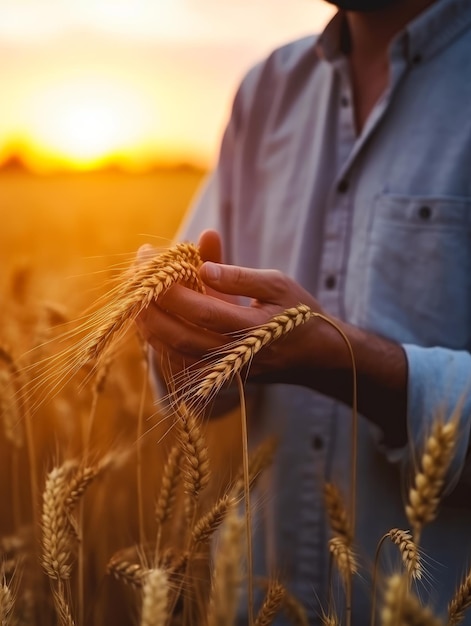
[{"label": "thumb with visible nail pointing left, topmost on the front hand", "polygon": [[282,303],[289,278],[277,270],[255,270],[237,265],[204,263],[200,276],[213,289],[273,304]]}]

